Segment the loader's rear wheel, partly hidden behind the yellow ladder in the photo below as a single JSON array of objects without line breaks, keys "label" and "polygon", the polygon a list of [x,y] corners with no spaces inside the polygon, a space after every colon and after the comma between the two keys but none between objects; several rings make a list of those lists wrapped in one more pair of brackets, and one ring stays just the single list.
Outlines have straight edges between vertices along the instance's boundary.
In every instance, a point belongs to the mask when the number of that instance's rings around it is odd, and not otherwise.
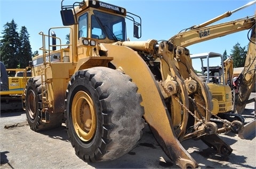
[{"label": "loader's rear wheel, partly hidden behind the yellow ladder", "polygon": [[26,87],[26,116],[30,129],[41,131],[61,126],[63,113],[50,113],[50,122],[44,123],[41,119],[42,108],[41,76],[29,78]]}]

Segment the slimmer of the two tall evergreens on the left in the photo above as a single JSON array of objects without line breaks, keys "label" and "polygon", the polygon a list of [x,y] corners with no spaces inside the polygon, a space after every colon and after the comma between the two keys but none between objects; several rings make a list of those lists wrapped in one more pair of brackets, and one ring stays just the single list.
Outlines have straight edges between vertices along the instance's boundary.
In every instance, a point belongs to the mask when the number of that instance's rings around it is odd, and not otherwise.
[{"label": "slimmer of the two tall evergreens on the left", "polygon": [[29,43],[29,33],[25,26],[21,27],[19,40],[21,44],[19,49],[20,68],[26,68],[28,62],[31,61],[32,51]]}]

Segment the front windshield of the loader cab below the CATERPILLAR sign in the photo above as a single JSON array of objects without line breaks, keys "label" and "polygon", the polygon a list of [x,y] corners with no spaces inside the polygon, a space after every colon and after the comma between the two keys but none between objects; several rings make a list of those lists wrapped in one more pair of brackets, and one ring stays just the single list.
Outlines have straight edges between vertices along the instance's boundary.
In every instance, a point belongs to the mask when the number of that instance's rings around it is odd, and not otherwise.
[{"label": "front windshield of the loader cab below the CATERPILLAR sign", "polygon": [[100,11],[93,11],[92,38],[125,41],[125,19],[121,16],[111,15]]}]

